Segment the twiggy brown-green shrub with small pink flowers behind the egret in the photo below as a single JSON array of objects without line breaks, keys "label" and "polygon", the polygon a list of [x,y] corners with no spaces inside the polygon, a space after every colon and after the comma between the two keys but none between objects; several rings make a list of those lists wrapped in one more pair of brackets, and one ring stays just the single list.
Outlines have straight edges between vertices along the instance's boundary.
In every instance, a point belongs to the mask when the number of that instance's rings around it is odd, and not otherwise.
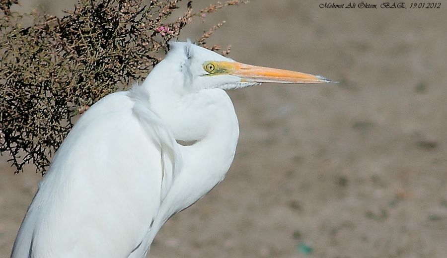
[{"label": "twiggy brown-green shrub with small pink flowers behind the egret", "polygon": [[[180,1],[79,0],[58,18],[14,13],[10,6],[17,0],[0,0],[0,153],[10,155],[15,173],[32,162],[43,175],[82,112],[143,80],[194,18],[244,2],[218,2],[195,12],[188,1],[184,14],[168,22]],[[25,16],[34,25],[23,27]],[[206,40],[222,25],[196,44],[219,50]]]}]

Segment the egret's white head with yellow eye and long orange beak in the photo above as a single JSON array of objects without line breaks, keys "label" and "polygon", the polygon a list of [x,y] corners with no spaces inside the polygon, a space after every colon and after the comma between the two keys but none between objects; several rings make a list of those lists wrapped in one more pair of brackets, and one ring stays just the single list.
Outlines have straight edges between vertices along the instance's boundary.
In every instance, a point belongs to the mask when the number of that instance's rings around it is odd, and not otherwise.
[{"label": "egret's white head with yellow eye and long orange beak", "polygon": [[177,64],[177,72],[184,78],[183,87],[193,91],[238,89],[263,82],[330,82],[319,75],[238,63],[191,42],[171,42],[166,60]]}]

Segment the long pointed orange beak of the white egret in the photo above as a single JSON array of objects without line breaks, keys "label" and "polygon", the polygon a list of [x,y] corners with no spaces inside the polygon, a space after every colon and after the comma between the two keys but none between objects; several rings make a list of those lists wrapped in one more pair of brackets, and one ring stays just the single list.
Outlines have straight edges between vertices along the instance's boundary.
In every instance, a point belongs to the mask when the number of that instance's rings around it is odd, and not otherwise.
[{"label": "long pointed orange beak of the white egret", "polygon": [[268,68],[255,65],[245,65],[236,62],[219,62],[228,74],[242,78],[242,82],[276,82],[276,83],[323,83],[331,80],[319,75]]}]

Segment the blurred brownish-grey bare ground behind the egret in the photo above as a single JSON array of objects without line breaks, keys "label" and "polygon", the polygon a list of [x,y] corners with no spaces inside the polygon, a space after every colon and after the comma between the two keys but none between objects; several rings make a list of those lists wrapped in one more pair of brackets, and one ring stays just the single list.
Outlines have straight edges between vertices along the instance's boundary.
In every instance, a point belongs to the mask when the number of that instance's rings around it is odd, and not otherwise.
[{"label": "blurred brownish-grey bare ground behind the egret", "polygon": [[[39,3],[61,15],[74,0],[22,1]],[[319,3],[252,0],[183,31],[181,39],[198,38],[226,20],[211,42],[231,44],[231,58],[340,83],[229,92],[240,124],[233,165],[165,224],[150,257],[447,257],[447,5]],[[41,178],[32,167],[13,175],[6,159],[1,258]]]}]

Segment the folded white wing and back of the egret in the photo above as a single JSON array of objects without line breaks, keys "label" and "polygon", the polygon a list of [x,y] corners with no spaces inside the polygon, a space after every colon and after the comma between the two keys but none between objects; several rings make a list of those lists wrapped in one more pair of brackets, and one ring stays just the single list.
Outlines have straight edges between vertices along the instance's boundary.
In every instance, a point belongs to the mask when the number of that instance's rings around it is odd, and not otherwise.
[{"label": "folded white wing and back of the egret", "polygon": [[171,136],[129,92],[93,105],[55,155],[11,257],[128,257],[181,164]]}]

